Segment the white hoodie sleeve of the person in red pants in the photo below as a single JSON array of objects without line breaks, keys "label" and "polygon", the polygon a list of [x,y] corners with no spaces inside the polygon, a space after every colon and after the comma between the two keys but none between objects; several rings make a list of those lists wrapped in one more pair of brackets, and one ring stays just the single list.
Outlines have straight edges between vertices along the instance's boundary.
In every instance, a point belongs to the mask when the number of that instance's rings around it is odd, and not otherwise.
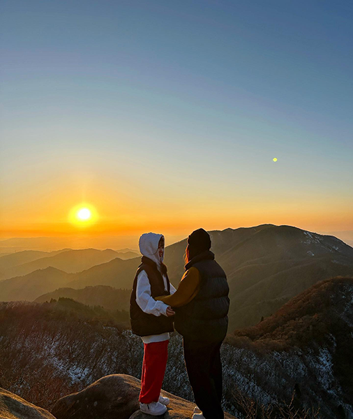
[{"label": "white hoodie sleeve of the person in red pants", "polygon": [[166,310],[169,306],[163,301],[154,300],[151,296],[151,284],[149,284],[149,277],[144,270],[137,277],[136,302],[144,313],[153,314],[153,316],[161,314],[167,316]]}]

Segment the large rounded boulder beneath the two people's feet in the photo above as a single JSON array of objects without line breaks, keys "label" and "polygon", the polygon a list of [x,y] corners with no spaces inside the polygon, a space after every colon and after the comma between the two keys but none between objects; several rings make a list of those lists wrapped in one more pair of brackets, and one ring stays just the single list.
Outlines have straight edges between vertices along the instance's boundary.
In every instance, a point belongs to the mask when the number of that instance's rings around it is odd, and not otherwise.
[{"label": "large rounded boulder beneath the two people's feet", "polygon": [[[57,419],[151,419],[141,413],[138,403],[141,382],[125,374],[100,378],[80,392],[61,397],[52,409]],[[195,404],[162,391],[170,398],[165,415],[160,418],[189,419]],[[225,418],[231,419],[228,414]]]}]

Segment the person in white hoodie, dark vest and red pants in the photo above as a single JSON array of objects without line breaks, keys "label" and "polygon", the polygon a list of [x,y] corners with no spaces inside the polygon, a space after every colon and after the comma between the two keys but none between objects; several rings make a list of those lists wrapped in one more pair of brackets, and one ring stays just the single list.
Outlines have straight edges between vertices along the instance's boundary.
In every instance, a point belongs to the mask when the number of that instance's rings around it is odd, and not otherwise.
[{"label": "person in white hoodie, dark vest and red pants", "polygon": [[171,295],[176,291],[163,263],[164,243],[161,234],[145,233],[140,237],[142,263],[137,269],[130,297],[131,328],[144,342],[140,409],[151,416],[163,415],[170,403],[170,399],[160,395],[160,390],[175,313],[169,305],[154,299],[157,295]]}]

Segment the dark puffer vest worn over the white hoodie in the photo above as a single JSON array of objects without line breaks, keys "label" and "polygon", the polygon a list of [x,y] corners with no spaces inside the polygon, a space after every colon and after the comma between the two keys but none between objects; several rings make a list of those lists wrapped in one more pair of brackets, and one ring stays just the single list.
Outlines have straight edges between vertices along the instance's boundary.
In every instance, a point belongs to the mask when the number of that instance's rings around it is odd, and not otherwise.
[{"label": "dark puffer vest worn over the white hoodie", "polygon": [[142,263],[137,269],[133,291],[130,297],[130,322],[133,332],[138,336],[160,335],[165,332],[174,332],[173,317],[167,317],[163,314],[161,316],[153,316],[153,314],[144,313],[137,304],[137,277],[142,270],[144,270],[147,273],[147,277],[149,277],[152,297],[170,295],[170,281],[167,272],[165,272],[165,275],[167,277],[168,289],[165,291],[163,277],[162,274],[160,274],[156,263],[146,256],[142,256]]}]

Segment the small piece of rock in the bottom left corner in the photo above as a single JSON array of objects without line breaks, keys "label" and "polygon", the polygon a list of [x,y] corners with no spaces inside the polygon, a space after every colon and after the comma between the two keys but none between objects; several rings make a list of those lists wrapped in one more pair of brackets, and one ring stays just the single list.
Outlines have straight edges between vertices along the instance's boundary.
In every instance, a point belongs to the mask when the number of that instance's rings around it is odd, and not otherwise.
[{"label": "small piece of rock in the bottom left corner", "polygon": [[0,388],[0,419],[55,419],[51,413]]}]

